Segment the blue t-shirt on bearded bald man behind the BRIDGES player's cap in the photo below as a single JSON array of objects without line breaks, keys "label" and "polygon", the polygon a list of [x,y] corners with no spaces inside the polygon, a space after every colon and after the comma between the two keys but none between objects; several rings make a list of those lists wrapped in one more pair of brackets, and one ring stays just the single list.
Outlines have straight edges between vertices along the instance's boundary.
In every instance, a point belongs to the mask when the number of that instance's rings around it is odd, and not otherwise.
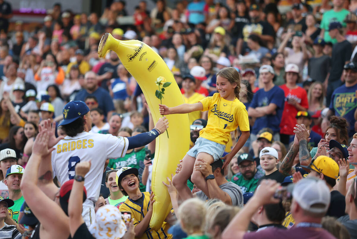
[{"label": "blue t-shirt on bearded bald man behind the BRIDGES player's cap", "polygon": [[74,100],[84,101],[87,96],[95,96],[98,100],[98,106],[104,111],[104,115],[106,116],[109,111],[113,111],[114,104],[112,98],[109,93],[101,87],[98,87],[92,94],[88,93],[85,89],[79,91],[74,98]]}]

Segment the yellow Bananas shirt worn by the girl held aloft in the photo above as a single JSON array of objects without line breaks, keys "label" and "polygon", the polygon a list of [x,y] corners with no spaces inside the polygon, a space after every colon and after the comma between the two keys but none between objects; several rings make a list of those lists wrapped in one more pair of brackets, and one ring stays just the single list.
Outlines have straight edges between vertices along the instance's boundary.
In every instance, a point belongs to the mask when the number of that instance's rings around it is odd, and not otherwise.
[{"label": "yellow Bananas shirt worn by the girl held aloft", "polygon": [[[221,102],[218,105],[220,98]],[[220,93],[215,93],[199,102],[203,105],[202,111],[208,110],[207,126],[201,129],[200,137],[226,145],[231,137],[230,133],[238,126],[241,131],[250,130],[248,112],[245,105],[237,98],[232,102],[222,98]]]}]

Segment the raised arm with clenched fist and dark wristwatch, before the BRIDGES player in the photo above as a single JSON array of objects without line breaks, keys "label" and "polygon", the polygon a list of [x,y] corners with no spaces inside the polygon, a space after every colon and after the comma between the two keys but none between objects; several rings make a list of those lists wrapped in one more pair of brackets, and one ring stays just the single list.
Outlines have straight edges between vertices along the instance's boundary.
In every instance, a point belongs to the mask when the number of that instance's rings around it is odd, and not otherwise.
[{"label": "raised arm with clenched fist and dark wristwatch, before the BRIDGES player", "polygon": [[[85,161],[77,163],[75,167],[76,176],[81,176],[84,178],[85,175],[89,172],[90,165],[90,162]],[[82,217],[83,188],[84,181],[78,182],[77,180],[74,180],[68,201],[69,230],[71,237],[74,237],[74,234],[80,225],[84,223]]]}]

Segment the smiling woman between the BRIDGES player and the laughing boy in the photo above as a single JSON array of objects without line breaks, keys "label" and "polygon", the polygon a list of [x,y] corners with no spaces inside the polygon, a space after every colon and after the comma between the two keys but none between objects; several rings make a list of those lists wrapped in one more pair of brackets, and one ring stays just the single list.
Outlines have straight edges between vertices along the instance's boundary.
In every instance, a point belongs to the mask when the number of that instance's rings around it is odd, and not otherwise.
[{"label": "smiling woman between the BRIDGES player and the laughing boy", "polygon": [[119,190],[119,187],[115,182],[115,176],[117,171],[117,169],[114,169],[107,172],[105,178],[105,185],[107,186],[107,188],[109,188],[110,195],[108,198],[105,199],[105,201],[107,202],[107,204],[119,208],[120,205],[124,203],[125,200],[128,198],[128,196],[123,195],[123,193],[121,192],[121,190]]}]

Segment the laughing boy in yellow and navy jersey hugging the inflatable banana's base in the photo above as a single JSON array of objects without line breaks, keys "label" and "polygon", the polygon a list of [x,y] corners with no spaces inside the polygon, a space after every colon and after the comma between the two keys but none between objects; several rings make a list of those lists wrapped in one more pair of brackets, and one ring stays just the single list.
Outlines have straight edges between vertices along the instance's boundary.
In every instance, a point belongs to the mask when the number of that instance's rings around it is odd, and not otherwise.
[{"label": "laughing boy in yellow and navy jersey hugging the inflatable banana's base", "polygon": [[155,232],[150,228],[150,219],[152,216],[152,204],[154,204],[154,194],[151,192],[140,192],[139,189],[139,171],[137,168],[123,167],[116,172],[115,181],[122,193],[129,196],[126,201],[120,205],[121,212],[131,212],[131,218],[134,219],[135,238],[141,239],[166,239],[172,238],[167,234],[168,224],[164,222],[159,231]]}]

